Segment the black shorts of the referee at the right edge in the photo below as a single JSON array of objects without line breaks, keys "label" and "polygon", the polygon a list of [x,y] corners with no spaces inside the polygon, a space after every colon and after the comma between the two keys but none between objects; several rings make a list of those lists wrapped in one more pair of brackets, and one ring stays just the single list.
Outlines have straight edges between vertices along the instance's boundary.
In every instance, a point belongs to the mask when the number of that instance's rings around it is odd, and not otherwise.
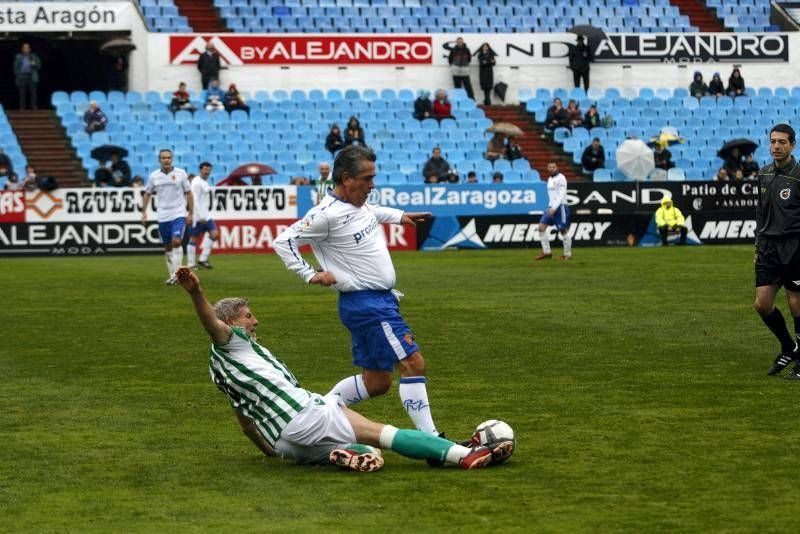
[{"label": "black shorts of the referee at the right edge", "polygon": [[783,286],[800,292],[800,237],[762,237],[756,247],[756,287]]}]

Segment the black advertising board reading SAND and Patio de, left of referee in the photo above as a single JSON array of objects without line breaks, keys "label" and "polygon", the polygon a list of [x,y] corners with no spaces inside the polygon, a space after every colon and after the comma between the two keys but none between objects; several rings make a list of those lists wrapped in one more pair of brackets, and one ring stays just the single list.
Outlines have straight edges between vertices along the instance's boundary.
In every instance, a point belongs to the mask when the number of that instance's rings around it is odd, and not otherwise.
[{"label": "black advertising board reading SAND and Patio de, left of referee", "polygon": [[650,212],[671,196],[688,211],[755,210],[755,181],[744,182],[614,182],[570,184],[567,199],[573,212]]}]

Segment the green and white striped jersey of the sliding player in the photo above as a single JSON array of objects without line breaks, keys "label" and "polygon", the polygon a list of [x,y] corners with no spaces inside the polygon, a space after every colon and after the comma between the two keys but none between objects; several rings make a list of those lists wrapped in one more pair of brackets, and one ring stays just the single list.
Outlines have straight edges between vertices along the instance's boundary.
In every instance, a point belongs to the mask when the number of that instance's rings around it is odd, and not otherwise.
[{"label": "green and white striped jersey of the sliding player", "polygon": [[211,345],[208,367],[211,379],[228,396],[231,406],[255,423],[271,446],[281,431],[311,399],[282,361],[232,326],[231,339]]}]

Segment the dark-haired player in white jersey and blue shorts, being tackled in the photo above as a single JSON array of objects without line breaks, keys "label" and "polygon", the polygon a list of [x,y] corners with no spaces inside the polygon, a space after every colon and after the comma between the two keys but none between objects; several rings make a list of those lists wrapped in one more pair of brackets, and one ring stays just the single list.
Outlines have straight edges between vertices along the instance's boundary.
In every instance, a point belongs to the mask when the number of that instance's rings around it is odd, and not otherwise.
[{"label": "dark-haired player in white jersey and blue shorts, being tackled", "polygon": [[[333,286],[339,292],[339,318],[352,337],[353,363],[363,368],[330,391],[347,404],[382,395],[400,372],[400,399],[414,425],[438,434],[433,423],[422,359],[411,329],[400,315],[394,265],[382,223],[416,224],[430,213],[403,213],[372,206],[375,153],[350,145],[333,163],[334,189],[305,217],[275,239],[273,247],[289,270],[309,284]],[[311,244],[317,272],[298,252]]]}]

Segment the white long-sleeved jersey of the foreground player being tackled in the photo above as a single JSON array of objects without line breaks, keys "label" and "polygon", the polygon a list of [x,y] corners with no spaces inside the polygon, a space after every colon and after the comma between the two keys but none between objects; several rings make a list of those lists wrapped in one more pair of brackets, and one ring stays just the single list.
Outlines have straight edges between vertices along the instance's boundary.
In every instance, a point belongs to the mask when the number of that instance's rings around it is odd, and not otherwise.
[{"label": "white long-sleeved jersey of the foreground player being tackled", "polygon": [[357,208],[328,193],[306,216],[279,235],[273,247],[290,271],[308,282],[316,271],[300,256],[310,243],[320,266],[336,277],[335,289],[392,289],[394,265],[382,223],[399,223],[403,211],[364,204]]}]

